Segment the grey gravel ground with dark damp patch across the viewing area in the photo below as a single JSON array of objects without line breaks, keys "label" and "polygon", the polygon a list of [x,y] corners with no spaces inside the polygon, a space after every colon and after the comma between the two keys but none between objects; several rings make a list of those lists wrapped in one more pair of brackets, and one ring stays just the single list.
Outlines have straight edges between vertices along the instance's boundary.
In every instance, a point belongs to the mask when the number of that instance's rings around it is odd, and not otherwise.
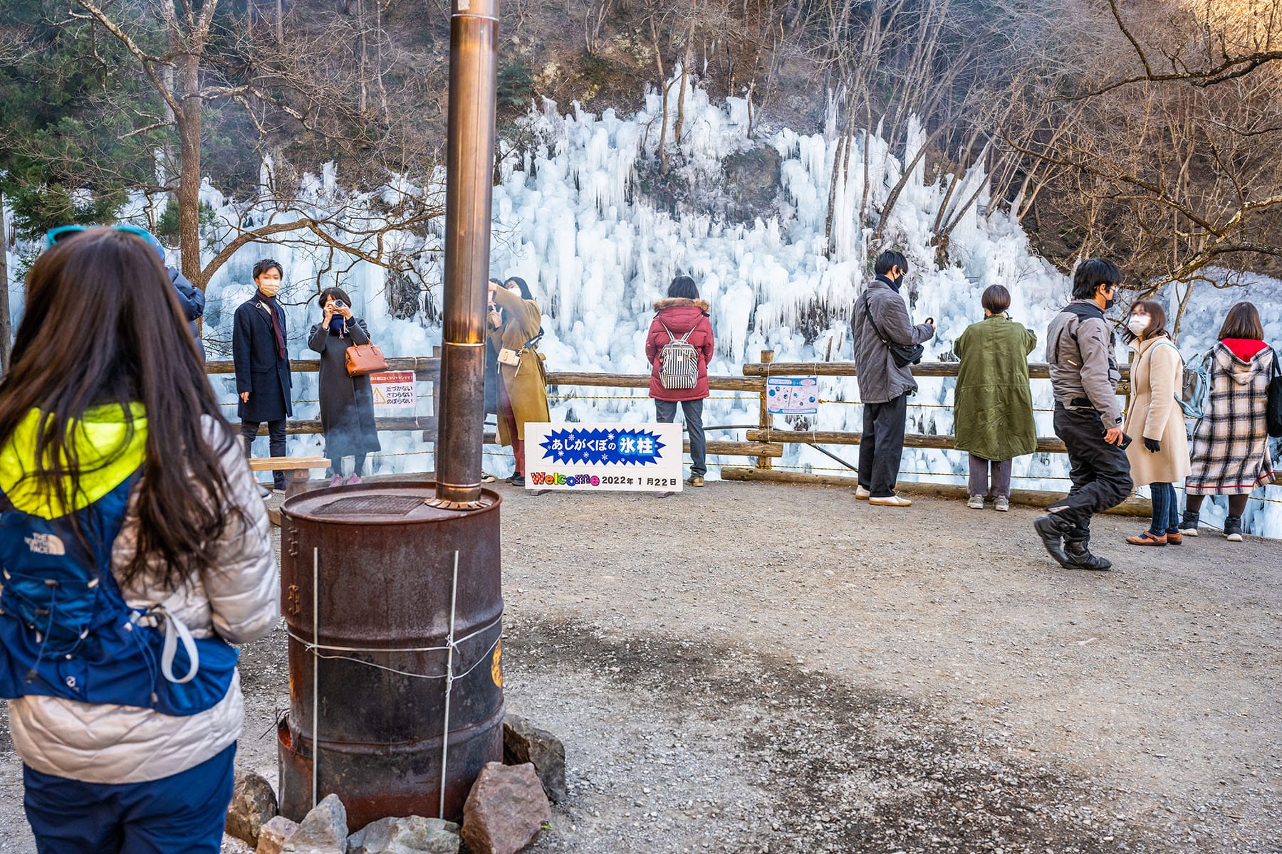
[{"label": "grey gravel ground with dark damp patch across the viewing area", "polygon": [[[1282,853],[1276,542],[1106,517],[1087,574],[1018,507],[501,493],[508,707],[569,767],[535,851]],[[283,632],[242,661],[238,762],[274,778]],[[4,734],[0,851],[31,850]]]}]

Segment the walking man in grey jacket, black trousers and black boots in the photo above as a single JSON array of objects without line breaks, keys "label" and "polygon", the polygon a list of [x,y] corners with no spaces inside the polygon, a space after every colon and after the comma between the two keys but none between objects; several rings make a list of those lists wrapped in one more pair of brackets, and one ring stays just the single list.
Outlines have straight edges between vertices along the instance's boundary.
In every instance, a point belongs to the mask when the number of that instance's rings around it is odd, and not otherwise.
[{"label": "walking man in grey jacket, black trousers and black boots", "polygon": [[1046,332],[1046,361],[1055,392],[1055,435],[1068,448],[1068,495],[1033,521],[1053,558],[1067,568],[1108,570],[1113,565],[1091,554],[1091,516],[1115,507],[1131,494],[1131,463],[1122,433],[1117,388],[1122,373],[1113,330],[1104,312],[1122,273],[1105,259],[1090,259],[1073,271],[1073,301],[1055,315]]}]

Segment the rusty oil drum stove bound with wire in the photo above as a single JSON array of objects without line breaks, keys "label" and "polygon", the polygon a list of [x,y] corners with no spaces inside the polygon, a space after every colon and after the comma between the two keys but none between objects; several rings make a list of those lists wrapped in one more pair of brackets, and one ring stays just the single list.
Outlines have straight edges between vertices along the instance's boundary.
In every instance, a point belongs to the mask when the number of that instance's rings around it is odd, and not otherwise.
[{"label": "rusty oil drum stove bound with wire", "polygon": [[[291,636],[279,787],[281,813],[294,821],[312,808],[314,757],[317,798],[337,794],[351,830],[438,814],[455,552],[446,819],[462,819],[482,766],[503,759],[500,498],[486,490],[487,507],[459,512],[427,506],[433,495],[426,481],[363,484],[281,507],[281,611]],[[308,648],[313,572],[318,659]]]}]

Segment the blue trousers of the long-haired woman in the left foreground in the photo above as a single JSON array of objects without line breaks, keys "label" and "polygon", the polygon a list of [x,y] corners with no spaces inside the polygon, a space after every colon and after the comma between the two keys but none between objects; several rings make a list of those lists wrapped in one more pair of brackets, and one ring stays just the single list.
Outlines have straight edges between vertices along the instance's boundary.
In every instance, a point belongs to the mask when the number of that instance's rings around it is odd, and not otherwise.
[{"label": "blue trousers of the long-haired woman in the left foreground", "polygon": [[79,782],[22,767],[38,854],[218,854],[236,745],[151,782]]}]

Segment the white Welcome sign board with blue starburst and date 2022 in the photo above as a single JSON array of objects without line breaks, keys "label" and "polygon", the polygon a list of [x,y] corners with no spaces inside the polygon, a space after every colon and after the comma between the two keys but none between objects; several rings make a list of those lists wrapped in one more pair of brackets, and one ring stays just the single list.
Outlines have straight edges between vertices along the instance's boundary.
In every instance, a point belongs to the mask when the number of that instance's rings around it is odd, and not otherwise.
[{"label": "white Welcome sign board with blue starburst and date 2022", "polygon": [[526,424],[526,489],[681,492],[679,424]]}]

